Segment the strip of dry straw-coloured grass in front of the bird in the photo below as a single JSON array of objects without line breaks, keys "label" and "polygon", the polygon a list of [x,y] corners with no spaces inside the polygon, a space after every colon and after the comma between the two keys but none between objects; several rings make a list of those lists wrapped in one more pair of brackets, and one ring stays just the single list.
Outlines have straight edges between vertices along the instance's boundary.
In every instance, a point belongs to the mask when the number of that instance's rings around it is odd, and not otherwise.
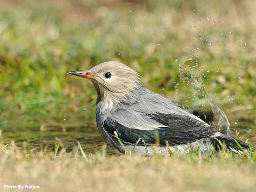
[{"label": "strip of dry straw-coloured grass in front of the bird", "polygon": [[60,152],[31,153],[14,144],[0,146],[0,189],[8,185],[40,186],[35,191],[254,191],[256,157],[226,152],[206,160],[196,154],[172,157],[109,156],[84,158]]}]

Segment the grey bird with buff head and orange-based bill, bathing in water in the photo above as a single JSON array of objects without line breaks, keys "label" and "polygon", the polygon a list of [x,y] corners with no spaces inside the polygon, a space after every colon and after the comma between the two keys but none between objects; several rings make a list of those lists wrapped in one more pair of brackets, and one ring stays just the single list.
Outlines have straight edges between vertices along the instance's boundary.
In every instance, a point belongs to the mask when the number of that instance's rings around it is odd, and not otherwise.
[{"label": "grey bird with buff head and orange-based bill, bathing in water", "polygon": [[116,61],[68,72],[91,80],[97,92],[96,123],[105,142],[119,153],[144,156],[225,147],[243,153],[250,146],[145,88],[141,76]]}]

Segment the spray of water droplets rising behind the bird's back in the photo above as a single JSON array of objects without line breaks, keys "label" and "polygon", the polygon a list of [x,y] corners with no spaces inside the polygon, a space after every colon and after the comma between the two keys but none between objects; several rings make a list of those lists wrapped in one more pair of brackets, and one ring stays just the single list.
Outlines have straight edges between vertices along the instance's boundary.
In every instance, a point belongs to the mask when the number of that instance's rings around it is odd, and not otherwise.
[{"label": "spray of water droplets rising behind the bird's back", "polygon": [[[192,86],[193,95],[192,100],[197,107],[209,108],[214,114],[214,118],[217,123],[212,122],[212,124],[218,128],[222,133],[227,134],[230,128],[230,123],[224,112],[218,107],[218,105],[213,102],[213,100],[208,96],[206,88],[204,86],[204,78],[209,74],[210,70],[205,70],[203,64],[199,64],[198,51],[202,50],[205,45],[211,46],[211,42],[207,39],[201,37],[198,33],[194,36],[194,46],[191,49],[187,48],[184,51],[188,51],[190,58],[185,63],[180,63],[180,79],[187,86]],[[203,70],[205,73],[197,74],[197,70]]]}]

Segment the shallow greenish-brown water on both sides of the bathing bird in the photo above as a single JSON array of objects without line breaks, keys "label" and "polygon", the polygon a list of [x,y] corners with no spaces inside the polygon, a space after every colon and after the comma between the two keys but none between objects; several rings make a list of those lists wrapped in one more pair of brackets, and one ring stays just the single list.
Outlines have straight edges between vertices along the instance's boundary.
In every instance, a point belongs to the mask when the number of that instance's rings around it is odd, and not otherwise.
[{"label": "shallow greenish-brown water on both sides of the bathing bird", "polygon": [[[26,148],[34,150],[53,151],[54,141],[58,138],[67,151],[72,151],[78,141],[86,153],[95,153],[102,149],[104,141],[96,127],[94,113],[86,111],[58,119],[45,116],[37,119],[29,121],[20,116],[2,122],[4,143],[9,144],[14,140],[21,147],[26,145]],[[243,141],[249,140],[256,146],[256,122],[233,122],[229,134]],[[110,148],[107,151],[113,153]]]}]

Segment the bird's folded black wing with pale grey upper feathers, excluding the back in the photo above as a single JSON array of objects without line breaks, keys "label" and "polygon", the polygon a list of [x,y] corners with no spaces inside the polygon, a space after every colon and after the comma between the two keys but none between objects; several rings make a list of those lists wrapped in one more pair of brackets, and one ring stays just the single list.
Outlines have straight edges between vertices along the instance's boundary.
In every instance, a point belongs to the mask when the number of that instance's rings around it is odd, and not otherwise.
[{"label": "bird's folded black wing with pale grey upper feathers, excluding the back", "polygon": [[[140,114],[122,111],[106,119],[103,125],[108,134],[118,133],[124,142],[134,144],[142,138],[147,144],[155,144],[159,136],[160,145],[188,144],[202,138],[209,138],[218,133],[216,128],[174,114]],[[139,145],[144,145],[141,141]]]}]

